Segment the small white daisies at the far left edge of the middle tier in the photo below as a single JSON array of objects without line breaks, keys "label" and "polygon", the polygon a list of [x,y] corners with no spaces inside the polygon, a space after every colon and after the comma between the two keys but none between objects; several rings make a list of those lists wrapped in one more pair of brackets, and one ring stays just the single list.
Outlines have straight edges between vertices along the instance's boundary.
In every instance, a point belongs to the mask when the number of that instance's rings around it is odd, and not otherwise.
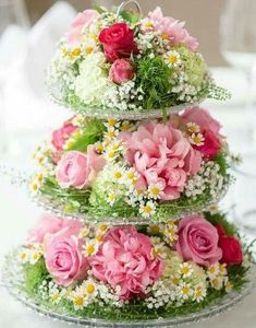
[{"label": "small white daisies at the far left edge of the middle tier", "polygon": [[54,165],[51,161],[52,154],[53,149],[49,144],[37,147],[33,153],[32,157],[36,161],[38,169],[29,184],[29,189],[33,194],[39,190],[46,176],[54,176]]}]

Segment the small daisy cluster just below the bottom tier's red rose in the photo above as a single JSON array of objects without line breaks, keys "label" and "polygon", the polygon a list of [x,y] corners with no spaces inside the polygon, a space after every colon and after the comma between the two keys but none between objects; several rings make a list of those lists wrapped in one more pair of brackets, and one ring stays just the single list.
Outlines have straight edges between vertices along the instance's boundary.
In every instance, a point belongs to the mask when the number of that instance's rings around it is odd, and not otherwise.
[{"label": "small daisy cluster just below the bottom tier's red rose", "polygon": [[220,291],[223,286],[227,292],[230,292],[233,284],[229,281],[228,270],[224,263],[216,262],[211,265],[207,270],[207,276],[210,281],[210,285]]}]

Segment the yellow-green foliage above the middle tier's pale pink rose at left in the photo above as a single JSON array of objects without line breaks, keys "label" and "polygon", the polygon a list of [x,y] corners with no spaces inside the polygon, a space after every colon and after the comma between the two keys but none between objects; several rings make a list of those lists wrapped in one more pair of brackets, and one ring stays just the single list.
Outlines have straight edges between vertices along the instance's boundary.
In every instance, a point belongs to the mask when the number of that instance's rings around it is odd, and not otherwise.
[{"label": "yellow-green foliage above the middle tier's pale pink rose at left", "polygon": [[75,136],[75,141],[66,149],[68,151],[76,150],[86,152],[89,144],[94,144],[101,140],[105,126],[103,121],[99,119],[90,119],[83,128],[83,133]]}]

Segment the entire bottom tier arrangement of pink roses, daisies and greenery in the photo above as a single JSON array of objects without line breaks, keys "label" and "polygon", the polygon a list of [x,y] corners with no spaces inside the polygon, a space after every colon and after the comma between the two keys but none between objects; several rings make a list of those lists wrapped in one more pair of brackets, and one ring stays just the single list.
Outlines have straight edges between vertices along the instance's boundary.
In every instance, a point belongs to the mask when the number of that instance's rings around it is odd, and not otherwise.
[{"label": "entire bottom tier arrangement of pink roses, daisies and greenery", "polygon": [[150,321],[196,314],[243,294],[252,262],[252,244],[221,213],[139,226],[45,214],[7,258],[13,277],[5,272],[5,280],[50,313]]}]

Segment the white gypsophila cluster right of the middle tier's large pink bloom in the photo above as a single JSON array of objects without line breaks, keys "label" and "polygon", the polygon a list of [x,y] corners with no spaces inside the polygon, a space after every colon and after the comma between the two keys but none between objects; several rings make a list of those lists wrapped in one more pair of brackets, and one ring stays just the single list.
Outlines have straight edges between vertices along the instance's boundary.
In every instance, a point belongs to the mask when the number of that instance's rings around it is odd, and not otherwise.
[{"label": "white gypsophila cluster right of the middle tier's large pink bloom", "polygon": [[224,177],[220,174],[220,166],[212,161],[203,162],[199,172],[193,175],[185,186],[186,197],[196,198],[209,190],[212,199],[218,199],[223,189]]}]

